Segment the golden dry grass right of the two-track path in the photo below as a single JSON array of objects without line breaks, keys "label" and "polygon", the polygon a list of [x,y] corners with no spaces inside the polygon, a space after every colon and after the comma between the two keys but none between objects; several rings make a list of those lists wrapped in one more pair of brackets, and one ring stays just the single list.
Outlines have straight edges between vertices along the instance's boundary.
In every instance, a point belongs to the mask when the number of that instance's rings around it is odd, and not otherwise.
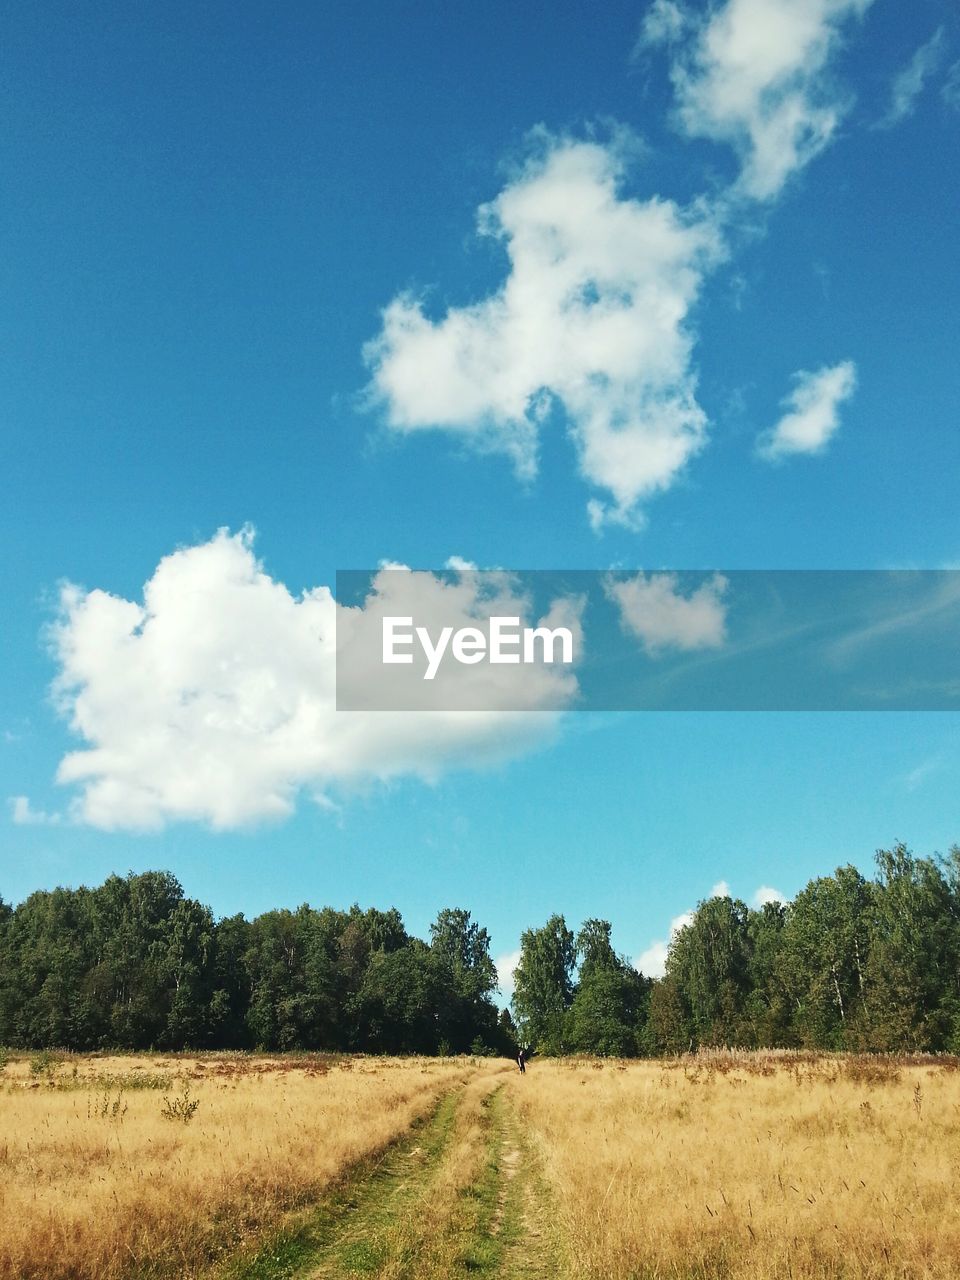
[{"label": "golden dry grass right of the two-track path", "polygon": [[955,1062],[535,1060],[508,1088],[575,1276],[960,1276]]}]

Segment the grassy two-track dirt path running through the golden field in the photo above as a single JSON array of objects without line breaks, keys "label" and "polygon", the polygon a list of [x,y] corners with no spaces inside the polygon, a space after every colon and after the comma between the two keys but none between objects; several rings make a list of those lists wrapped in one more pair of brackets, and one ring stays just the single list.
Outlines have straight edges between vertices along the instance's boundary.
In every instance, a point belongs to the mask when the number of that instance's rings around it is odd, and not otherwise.
[{"label": "grassy two-track dirt path running through the golden field", "polygon": [[562,1274],[548,1196],[497,1078],[448,1094],[383,1160],[223,1280],[539,1280]]}]

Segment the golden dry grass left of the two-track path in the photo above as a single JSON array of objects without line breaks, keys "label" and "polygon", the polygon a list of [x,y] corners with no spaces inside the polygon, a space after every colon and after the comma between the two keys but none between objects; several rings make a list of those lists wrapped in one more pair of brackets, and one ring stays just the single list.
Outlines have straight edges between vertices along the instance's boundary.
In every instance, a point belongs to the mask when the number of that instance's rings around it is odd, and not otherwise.
[{"label": "golden dry grass left of the two-track path", "polygon": [[[193,1275],[492,1070],[468,1059],[33,1065],[0,1075],[0,1276],[12,1280]],[[165,1119],[184,1097],[192,1119]]]}]

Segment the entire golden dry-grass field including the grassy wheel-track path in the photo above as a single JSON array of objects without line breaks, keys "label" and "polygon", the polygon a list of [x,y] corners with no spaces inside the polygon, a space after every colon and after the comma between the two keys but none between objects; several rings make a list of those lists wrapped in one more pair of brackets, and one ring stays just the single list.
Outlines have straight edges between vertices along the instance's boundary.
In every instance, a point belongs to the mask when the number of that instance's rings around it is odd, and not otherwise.
[{"label": "entire golden dry-grass field including the grassy wheel-track path", "polygon": [[0,1276],[946,1280],[957,1066],[19,1059]]}]

